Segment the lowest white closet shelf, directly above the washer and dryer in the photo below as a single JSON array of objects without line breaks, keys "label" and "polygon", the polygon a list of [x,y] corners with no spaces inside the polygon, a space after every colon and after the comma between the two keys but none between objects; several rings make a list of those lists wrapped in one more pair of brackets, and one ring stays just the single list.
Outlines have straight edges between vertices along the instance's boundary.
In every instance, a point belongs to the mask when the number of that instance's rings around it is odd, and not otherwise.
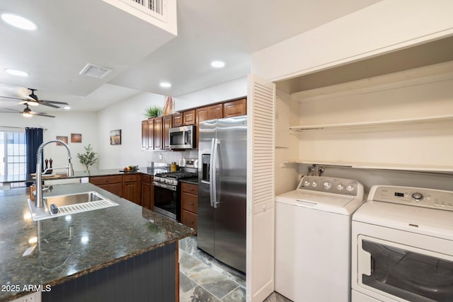
[{"label": "lowest white closet shelf, directly above the washer and dryer", "polygon": [[283,164],[316,164],[331,165],[348,168],[362,169],[381,169],[381,170],[406,170],[417,172],[453,173],[453,165],[411,165],[401,163],[345,163],[335,161],[314,161],[310,159],[297,159],[294,161],[284,161]]}]

